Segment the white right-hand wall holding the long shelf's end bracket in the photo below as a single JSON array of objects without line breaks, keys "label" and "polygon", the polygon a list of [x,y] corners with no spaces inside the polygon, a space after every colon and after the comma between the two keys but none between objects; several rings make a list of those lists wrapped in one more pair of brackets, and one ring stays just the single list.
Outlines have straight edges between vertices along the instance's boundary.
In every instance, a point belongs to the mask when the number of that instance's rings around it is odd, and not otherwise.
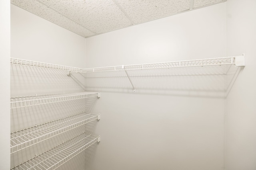
[{"label": "white right-hand wall holding the long shelf's end bracket", "polygon": [[228,0],[227,55],[245,54],[246,66],[228,73],[227,170],[256,169],[256,1]]}]

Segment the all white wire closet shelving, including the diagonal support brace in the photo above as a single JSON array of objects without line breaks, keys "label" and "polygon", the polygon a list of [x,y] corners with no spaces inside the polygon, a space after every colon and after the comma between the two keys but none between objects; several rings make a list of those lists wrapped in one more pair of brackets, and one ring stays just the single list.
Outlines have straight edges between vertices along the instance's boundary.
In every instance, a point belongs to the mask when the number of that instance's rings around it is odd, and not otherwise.
[{"label": "all white wire closet shelving, including the diagonal support brace", "polygon": [[[128,70],[147,70],[147,69],[161,69],[161,68],[178,68],[178,67],[193,67],[193,66],[214,66],[214,65],[235,65],[245,66],[244,55],[236,57],[223,57],[212,59],[199,59],[187,61],[174,61],[165,63],[150,63],[150,64],[134,64],[109,66],[98,68],[76,68],[70,66],[62,66],[57,64],[42,63],[37,61],[29,61],[23,59],[10,58],[10,64],[20,66],[31,66],[38,68],[49,68],[55,70],[68,71],[68,75],[72,73],[90,73],[90,72],[108,72],[108,71],[125,71]],[[130,80],[131,84],[132,81]],[[135,88],[132,84],[135,92]],[[40,96],[24,96],[14,97],[10,99],[10,108],[19,108],[27,106],[36,106],[41,104],[50,104],[55,102],[63,102],[68,100],[77,100],[90,97],[100,97],[100,92],[82,92],[75,94],[55,94],[55,95],[40,95]],[[36,143],[64,133],[70,129],[88,123],[89,121],[99,119],[100,115],[79,113],[77,115],[58,119],[36,125],[27,129],[22,129],[11,133],[11,153],[30,147]],[[42,154],[39,154],[17,166],[11,170],[54,170],[90,147],[90,145],[99,142],[100,136],[82,133]]]}]

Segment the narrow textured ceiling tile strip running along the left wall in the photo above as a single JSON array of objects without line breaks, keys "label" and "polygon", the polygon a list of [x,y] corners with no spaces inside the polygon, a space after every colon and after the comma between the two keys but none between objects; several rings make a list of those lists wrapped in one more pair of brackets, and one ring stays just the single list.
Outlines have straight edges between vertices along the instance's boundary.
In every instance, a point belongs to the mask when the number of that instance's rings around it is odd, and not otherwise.
[{"label": "narrow textured ceiling tile strip running along the left wall", "polygon": [[78,25],[74,21],[69,20],[65,16],[62,16],[58,12],[55,12],[36,0],[11,0],[11,3],[48,21],[51,21],[52,23],[60,25],[61,27],[64,27],[78,35],[81,35],[82,37],[95,35],[95,33],[89,31],[81,25]]}]

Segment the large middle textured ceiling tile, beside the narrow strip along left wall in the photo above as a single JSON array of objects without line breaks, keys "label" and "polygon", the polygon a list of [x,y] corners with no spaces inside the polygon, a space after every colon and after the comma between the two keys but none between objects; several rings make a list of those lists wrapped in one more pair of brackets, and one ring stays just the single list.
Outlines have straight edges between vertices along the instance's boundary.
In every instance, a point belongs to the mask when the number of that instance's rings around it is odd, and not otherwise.
[{"label": "large middle textured ceiling tile, beside the narrow strip along left wall", "polygon": [[112,0],[40,1],[95,33],[105,33],[132,25]]}]

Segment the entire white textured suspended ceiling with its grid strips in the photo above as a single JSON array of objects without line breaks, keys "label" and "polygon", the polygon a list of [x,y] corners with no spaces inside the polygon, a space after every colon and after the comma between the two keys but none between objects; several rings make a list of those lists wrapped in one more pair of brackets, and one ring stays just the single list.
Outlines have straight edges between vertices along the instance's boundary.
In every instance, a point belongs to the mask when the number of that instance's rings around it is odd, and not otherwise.
[{"label": "entire white textured suspended ceiling with its grid strips", "polygon": [[220,2],[226,0],[11,0],[85,38]]}]

